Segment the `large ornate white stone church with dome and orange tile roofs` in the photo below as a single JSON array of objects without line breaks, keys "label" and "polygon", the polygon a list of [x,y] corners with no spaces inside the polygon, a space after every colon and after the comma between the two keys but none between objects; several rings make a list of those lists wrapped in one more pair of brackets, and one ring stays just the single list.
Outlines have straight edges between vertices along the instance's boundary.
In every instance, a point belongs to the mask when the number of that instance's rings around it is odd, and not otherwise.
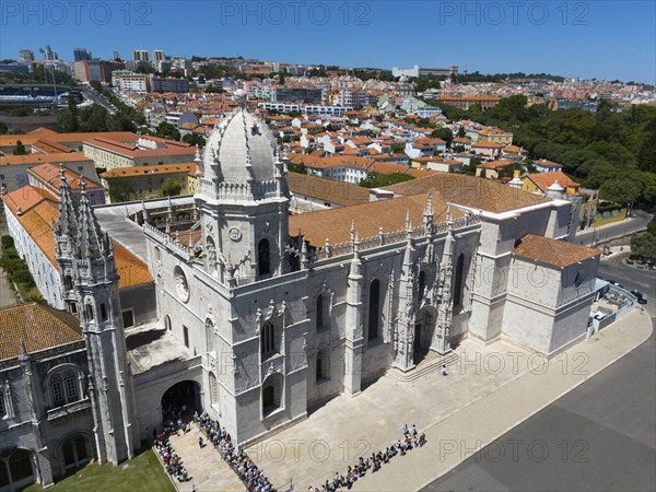
[{"label": "large ornate white stone church with dome and orange tile roofs", "polygon": [[[33,453],[34,480],[66,471],[61,436],[42,429],[71,405],[55,401],[47,376],[61,364],[79,382],[68,431],[84,433],[90,457],[120,462],[161,427],[172,395],[250,444],[465,337],[548,356],[585,337],[599,251],[567,242],[570,202],[444,174],[290,215],[274,149],[265,122],[238,108],[197,153],[194,197],[92,209],[62,183],[51,241],[86,356],[39,359],[30,389],[8,373],[30,350],[0,366],[0,401],[16,407],[0,436]],[[121,288],[118,247],[152,280]]]}]

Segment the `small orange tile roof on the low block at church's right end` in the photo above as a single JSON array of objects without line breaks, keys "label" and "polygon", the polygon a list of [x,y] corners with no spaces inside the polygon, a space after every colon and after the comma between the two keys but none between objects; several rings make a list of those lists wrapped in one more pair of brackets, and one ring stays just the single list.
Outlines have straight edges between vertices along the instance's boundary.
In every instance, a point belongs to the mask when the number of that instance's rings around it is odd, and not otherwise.
[{"label": "small orange tile roof on the low block at church's right end", "polygon": [[527,234],[519,239],[513,254],[522,258],[563,268],[601,255],[601,251],[565,241]]}]

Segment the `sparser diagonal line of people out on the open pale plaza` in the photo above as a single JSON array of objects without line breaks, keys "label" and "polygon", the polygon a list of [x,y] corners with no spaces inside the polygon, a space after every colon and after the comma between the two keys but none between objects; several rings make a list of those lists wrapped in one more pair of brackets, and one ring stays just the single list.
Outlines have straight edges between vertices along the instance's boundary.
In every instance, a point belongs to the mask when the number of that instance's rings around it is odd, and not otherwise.
[{"label": "sparser diagonal line of people out on the open pale plaza", "polygon": [[415,447],[422,447],[426,443],[426,435],[424,433],[419,434],[417,432],[417,425],[412,425],[412,429],[408,429],[408,424],[403,425],[403,438],[397,440],[384,452],[372,453],[368,458],[362,456],[358,458],[358,462],[352,467],[349,465],[347,471],[343,475],[335,472],[332,480],[326,480],[321,487],[309,487],[309,492],[335,492],[342,488],[351,489],[353,483],[364,477],[367,471],[376,472],[380,467],[395,456],[403,456],[409,450]]}]

